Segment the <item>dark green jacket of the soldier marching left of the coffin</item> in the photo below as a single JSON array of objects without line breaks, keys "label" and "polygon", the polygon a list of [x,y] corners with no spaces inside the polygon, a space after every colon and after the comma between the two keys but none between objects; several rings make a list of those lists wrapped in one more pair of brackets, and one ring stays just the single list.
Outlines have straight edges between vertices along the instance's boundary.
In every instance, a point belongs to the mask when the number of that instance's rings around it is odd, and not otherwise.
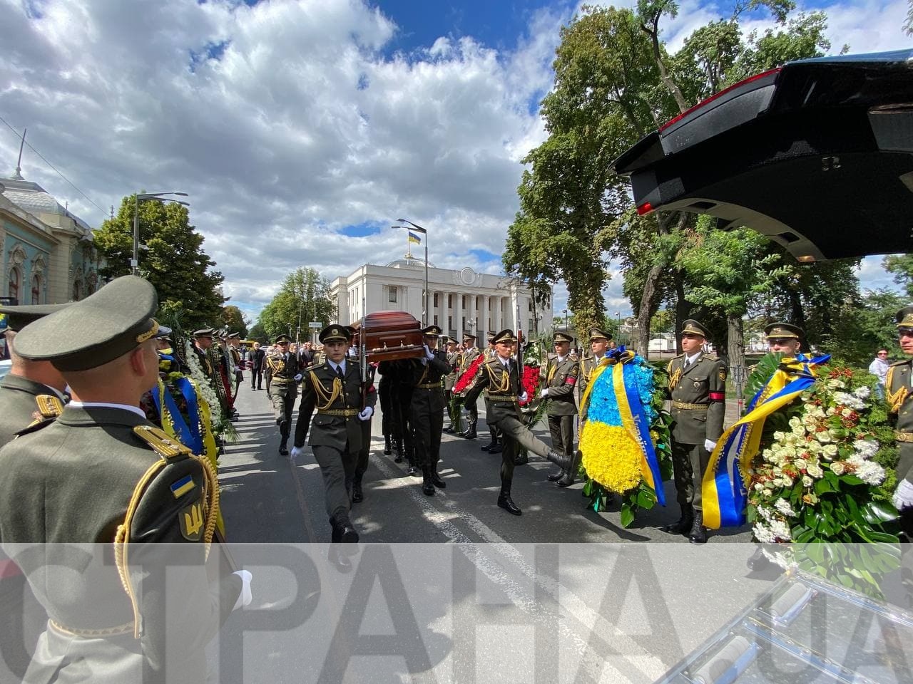
[{"label": "dark green jacket of the soldier marching left of the coffin", "polygon": [[[345,360],[345,383],[339,395],[329,406],[323,406],[326,397],[330,399],[333,383],[339,376],[329,362],[324,362],[308,371],[301,384],[301,405],[298,423],[295,425],[295,446],[304,446],[310,426],[310,446],[332,447],[338,451],[357,453],[362,449],[362,421],[357,412],[362,410],[362,377],[358,361]],[[377,392],[373,385],[367,394],[367,406],[377,403]],[[321,410],[344,411],[355,409],[351,416],[321,413]],[[317,411],[315,414],[314,411]],[[311,422],[313,416],[313,422]],[[348,444],[348,447],[346,446]]]}]

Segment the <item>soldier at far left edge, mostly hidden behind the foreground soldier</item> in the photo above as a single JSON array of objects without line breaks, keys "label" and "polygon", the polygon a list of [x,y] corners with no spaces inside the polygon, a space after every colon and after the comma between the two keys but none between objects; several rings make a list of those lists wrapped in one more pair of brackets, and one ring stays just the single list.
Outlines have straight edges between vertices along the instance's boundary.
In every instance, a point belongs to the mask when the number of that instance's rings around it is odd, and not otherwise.
[{"label": "soldier at far left edge, mostly hidden behind the foreground soldier", "polygon": [[12,366],[0,381],[0,447],[16,437],[16,432],[41,420],[60,415],[67,403],[67,381],[50,361],[30,361],[16,354],[16,333],[42,316],[53,314],[66,304],[0,306],[6,315],[6,348]]}]

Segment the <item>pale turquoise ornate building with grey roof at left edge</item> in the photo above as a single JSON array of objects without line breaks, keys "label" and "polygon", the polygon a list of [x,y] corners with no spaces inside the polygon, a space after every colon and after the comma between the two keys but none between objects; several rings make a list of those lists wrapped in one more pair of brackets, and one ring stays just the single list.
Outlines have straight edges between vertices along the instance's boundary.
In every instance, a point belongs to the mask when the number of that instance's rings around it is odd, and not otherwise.
[{"label": "pale turquoise ornate building with grey roof at left edge", "polygon": [[0,295],[19,304],[61,304],[100,286],[89,225],[16,172],[0,179]]}]

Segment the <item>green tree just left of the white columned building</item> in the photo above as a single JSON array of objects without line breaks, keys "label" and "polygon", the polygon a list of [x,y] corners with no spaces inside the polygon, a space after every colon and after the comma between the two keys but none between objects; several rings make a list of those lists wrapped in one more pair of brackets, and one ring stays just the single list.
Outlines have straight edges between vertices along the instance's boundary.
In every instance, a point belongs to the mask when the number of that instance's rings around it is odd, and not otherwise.
[{"label": "green tree just left of the white columned building", "polygon": [[336,319],[330,288],[330,280],[313,268],[292,271],[278,294],[260,312],[257,323],[270,339],[282,333],[293,339],[307,339],[310,321],[329,324]]}]

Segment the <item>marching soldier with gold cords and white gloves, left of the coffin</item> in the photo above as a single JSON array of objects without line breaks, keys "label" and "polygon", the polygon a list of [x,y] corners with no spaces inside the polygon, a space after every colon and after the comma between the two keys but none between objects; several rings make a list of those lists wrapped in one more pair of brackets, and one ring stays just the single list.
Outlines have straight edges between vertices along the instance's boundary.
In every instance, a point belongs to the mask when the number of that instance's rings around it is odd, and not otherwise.
[{"label": "marching soldier with gold cords and white gloves, left of the coffin", "polygon": [[346,554],[355,552],[358,532],[349,518],[352,504],[347,484],[352,482],[362,449],[361,422],[371,420],[377,392],[370,385],[364,388],[362,407],[361,370],[358,361],[346,358],[349,336],[345,326],[323,328],[320,342],[327,360],[304,378],[292,457],[303,453],[310,427],[308,443],[323,475],[331,543],[343,543],[342,550],[331,546],[331,561],[348,570],[352,565]]}]

